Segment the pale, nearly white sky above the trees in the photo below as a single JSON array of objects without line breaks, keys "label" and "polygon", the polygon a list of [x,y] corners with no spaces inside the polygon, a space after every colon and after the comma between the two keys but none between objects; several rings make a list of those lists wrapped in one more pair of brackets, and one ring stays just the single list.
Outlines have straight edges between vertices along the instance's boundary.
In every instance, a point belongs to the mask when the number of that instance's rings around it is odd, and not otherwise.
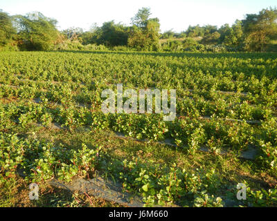
[{"label": "pale, nearly white sky above the trees", "polygon": [[0,0],[0,9],[9,15],[26,15],[42,12],[46,17],[57,19],[57,28],[83,28],[89,30],[93,23],[101,26],[114,20],[129,25],[139,8],[150,8],[158,17],[161,32],[181,32],[189,25],[230,25],[246,14],[258,13],[262,8],[277,6],[276,0]]}]

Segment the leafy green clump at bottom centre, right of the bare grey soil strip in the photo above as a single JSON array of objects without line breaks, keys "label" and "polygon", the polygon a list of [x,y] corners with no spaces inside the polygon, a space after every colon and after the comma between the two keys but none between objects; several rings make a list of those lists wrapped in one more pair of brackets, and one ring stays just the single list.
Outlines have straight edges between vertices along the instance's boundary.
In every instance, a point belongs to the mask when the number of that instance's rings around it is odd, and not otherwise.
[{"label": "leafy green clump at bottom centre, right of the bare grey soil strip", "polygon": [[[195,175],[172,164],[146,166],[124,160],[119,165],[109,165],[111,173],[118,173],[123,187],[129,192],[139,189],[145,206],[170,206],[179,202],[186,206],[223,206],[222,199],[208,196],[204,190],[206,175]],[[195,199],[195,200],[193,200]],[[192,203],[193,202],[193,203]]]}]

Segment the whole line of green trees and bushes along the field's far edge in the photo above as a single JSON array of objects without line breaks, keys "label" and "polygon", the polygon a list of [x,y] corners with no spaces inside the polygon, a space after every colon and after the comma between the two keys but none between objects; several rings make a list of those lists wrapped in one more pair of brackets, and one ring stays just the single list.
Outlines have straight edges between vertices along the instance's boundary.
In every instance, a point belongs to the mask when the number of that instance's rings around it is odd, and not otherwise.
[{"label": "whole line of green trees and bushes along the field's far edge", "polygon": [[248,14],[232,26],[189,26],[160,33],[158,18],[141,8],[131,26],[108,21],[102,26],[57,30],[57,20],[40,12],[10,16],[0,11],[0,50],[148,50],[277,51],[277,10]]}]

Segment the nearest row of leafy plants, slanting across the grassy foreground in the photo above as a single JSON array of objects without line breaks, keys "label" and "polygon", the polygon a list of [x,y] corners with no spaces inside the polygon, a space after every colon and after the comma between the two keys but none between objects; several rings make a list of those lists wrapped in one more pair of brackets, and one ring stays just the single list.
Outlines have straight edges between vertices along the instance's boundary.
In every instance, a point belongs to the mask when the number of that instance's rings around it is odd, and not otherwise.
[{"label": "nearest row of leafy plants, slanting across the grassy foreground", "polygon": [[[123,183],[123,190],[140,195],[145,206],[224,206],[222,198],[215,196],[221,185],[215,171],[196,169],[189,172],[176,164],[159,166],[127,160],[111,163],[109,159],[107,164],[101,147],[91,149],[82,144],[74,150],[62,144],[19,138],[17,134],[1,133],[0,146],[1,184],[15,180],[19,170],[26,182],[41,183],[53,177],[69,182],[77,175],[89,177],[96,167],[105,166],[106,172]],[[235,186],[231,191],[235,195]],[[253,191],[248,188],[247,193],[247,201],[237,203],[242,206],[274,206],[277,203],[276,189]]]}]

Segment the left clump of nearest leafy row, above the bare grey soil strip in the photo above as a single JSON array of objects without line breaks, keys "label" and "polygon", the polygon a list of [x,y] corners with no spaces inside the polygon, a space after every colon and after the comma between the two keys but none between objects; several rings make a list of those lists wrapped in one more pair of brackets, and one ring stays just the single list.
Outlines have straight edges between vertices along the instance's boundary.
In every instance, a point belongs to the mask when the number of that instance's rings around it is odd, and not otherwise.
[{"label": "left clump of nearest leafy row, above the bare grey soil strip", "polygon": [[[56,176],[69,182],[75,175],[84,177],[96,166],[100,147],[95,150],[82,144],[78,151],[64,146],[19,139],[17,134],[0,137],[0,176],[15,175],[23,169],[25,180],[48,180]],[[1,180],[3,182],[3,180]]]}]

